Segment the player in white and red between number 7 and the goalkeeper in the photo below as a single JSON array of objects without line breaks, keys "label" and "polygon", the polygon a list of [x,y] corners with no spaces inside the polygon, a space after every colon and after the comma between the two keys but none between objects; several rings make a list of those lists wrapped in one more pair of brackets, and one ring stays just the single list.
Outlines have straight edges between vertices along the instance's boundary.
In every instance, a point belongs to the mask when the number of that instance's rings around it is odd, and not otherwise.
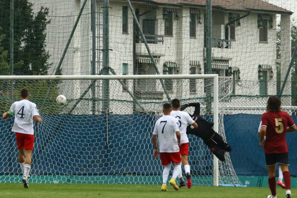
[{"label": "player in white and red between number 7 and the goalkeeper", "polygon": [[[171,100],[172,105],[172,111],[170,113],[171,116],[175,117],[179,121],[179,129],[181,132],[181,146],[180,146],[180,152],[182,155],[182,164],[185,168],[185,173],[187,177],[187,187],[192,187],[192,180],[191,180],[191,174],[190,174],[190,165],[188,162],[188,156],[189,156],[189,139],[187,136],[187,126],[190,124],[194,128],[198,128],[198,124],[191,118],[191,116],[183,111],[180,111],[179,108],[181,107],[181,102],[179,99],[172,99]],[[179,174],[180,179],[180,185],[179,187],[185,186],[185,182],[183,179],[182,172]]]}]

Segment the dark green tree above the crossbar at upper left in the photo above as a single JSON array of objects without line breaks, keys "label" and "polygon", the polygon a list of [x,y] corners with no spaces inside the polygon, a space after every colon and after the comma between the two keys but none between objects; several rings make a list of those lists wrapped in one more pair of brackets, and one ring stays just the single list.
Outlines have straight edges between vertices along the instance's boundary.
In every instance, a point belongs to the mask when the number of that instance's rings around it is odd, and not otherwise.
[{"label": "dark green tree above the crossbar at upper left", "polygon": [[[37,13],[33,12],[33,4],[28,0],[14,1],[14,74],[16,75],[47,75],[51,63],[46,50],[46,29],[50,20],[47,19],[49,9],[41,7]],[[0,41],[3,50],[8,51],[9,63],[9,26],[10,0],[2,0],[0,6],[0,35],[6,35]]]}]

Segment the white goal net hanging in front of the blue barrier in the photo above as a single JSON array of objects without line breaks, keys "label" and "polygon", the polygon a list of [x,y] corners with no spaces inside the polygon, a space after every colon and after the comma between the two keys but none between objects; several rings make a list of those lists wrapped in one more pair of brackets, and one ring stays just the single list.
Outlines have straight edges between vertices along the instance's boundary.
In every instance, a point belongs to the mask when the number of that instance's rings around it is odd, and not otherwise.
[{"label": "white goal net hanging in front of the blue barrier", "polygon": [[[200,102],[200,115],[214,122],[216,86],[213,78],[202,77],[216,75],[175,75],[180,79],[164,80],[156,78],[172,75],[154,76],[119,77],[122,80],[111,79],[118,76],[95,76],[97,80],[43,80],[43,76],[31,76],[37,80],[3,80],[2,76],[1,112],[20,100],[20,89],[28,87],[29,100],[37,104],[43,119],[34,126],[29,182],[160,184],[162,166],[159,158],[152,157],[151,135],[155,121],[162,115],[162,104],[174,98],[182,104]],[[224,106],[230,99],[232,78],[219,78],[218,82],[217,106]],[[96,94],[92,97],[93,86]],[[65,105],[56,103],[58,95],[66,96]],[[194,108],[186,111],[193,113]],[[219,108],[215,124],[225,138],[223,114],[223,108]],[[13,122],[14,116],[0,120],[0,181],[5,183],[18,183],[22,178],[15,135],[11,132]],[[229,153],[225,154],[225,162],[216,165],[200,138],[190,135],[189,141],[194,185],[214,185],[214,170],[218,171],[218,184],[241,185]]]}]

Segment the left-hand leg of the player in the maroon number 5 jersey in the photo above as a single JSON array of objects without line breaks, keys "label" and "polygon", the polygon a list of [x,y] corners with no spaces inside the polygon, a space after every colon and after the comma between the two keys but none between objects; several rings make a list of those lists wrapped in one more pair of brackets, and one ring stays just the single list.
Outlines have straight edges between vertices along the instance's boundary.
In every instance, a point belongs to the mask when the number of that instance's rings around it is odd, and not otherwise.
[{"label": "left-hand leg of the player in the maroon number 5 jersey", "polygon": [[275,153],[267,154],[265,153],[265,161],[268,170],[268,185],[271,191],[271,198],[276,197],[276,181],[275,181],[275,167],[276,167],[276,157]]}]

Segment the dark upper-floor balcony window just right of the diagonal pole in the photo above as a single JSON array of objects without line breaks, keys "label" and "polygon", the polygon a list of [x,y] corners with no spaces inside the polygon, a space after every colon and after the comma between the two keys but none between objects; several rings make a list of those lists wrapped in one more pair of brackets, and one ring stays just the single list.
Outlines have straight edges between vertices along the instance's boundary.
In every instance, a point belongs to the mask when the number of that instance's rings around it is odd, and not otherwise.
[{"label": "dark upper-floor balcony window just right of the diagonal pole", "polygon": [[[144,19],[143,20],[143,33],[146,36],[148,44],[157,44],[157,39],[155,37],[156,34],[156,26],[157,20],[156,19]],[[152,36],[149,36],[152,35]]]}]

